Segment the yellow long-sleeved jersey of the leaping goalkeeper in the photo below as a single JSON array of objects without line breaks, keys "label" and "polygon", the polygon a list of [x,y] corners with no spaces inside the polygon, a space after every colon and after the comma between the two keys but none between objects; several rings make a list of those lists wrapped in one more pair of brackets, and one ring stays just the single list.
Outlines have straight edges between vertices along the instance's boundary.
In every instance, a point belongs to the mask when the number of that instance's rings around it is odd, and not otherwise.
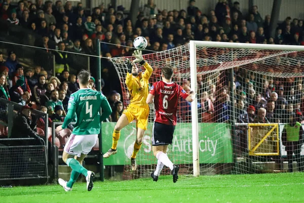
[{"label": "yellow long-sleeved jersey of the leaping goalkeeper", "polygon": [[130,105],[136,105],[137,107],[147,107],[146,98],[149,93],[149,78],[152,75],[152,67],[145,62],[144,73],[139,73],[138,77],[133,78],[132,74],[127,73],[126,85],[130,92]]}]

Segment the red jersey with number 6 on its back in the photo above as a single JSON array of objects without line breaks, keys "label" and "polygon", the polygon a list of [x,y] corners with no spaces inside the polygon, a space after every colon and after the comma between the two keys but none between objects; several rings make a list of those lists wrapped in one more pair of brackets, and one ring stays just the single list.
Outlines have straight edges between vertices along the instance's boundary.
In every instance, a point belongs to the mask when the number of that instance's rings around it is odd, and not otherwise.
[{"label": "red jersey with number 6 on its back", "polygon": [[149,91],[154,97],[156,118],[155,122],[166,125],[176,125],[178,98],[187,98],[189,95],[176,83],[156,82]]}]

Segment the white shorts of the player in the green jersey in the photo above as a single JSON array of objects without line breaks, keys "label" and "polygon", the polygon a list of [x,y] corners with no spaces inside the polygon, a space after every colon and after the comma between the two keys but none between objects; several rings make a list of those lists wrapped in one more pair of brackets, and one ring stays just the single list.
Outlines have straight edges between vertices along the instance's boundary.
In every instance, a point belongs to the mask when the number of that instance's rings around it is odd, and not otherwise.
[{"label": "white shorts of the player in the green jersey", "polygon": [[98,134],[86,134],[75,136],[71,134],[64,146],[64,151],[68,154],[80,157],[81,154],[88,154],[97,142]]}]

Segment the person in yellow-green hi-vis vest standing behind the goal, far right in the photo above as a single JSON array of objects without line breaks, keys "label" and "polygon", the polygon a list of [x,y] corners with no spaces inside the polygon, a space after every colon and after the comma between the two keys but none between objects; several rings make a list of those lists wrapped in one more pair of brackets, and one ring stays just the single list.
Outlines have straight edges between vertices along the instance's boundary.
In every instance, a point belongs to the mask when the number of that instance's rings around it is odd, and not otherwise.
[{"label": "person in yellow-green hi-vis vest standing behind the goal, far right", "polygon": [[303,161],[301,158],[301,146],[303,145],[303,128],[301,123],[296,121],[294,112],[289,114],[289,122],[284,125],[282,132],[282,144],[285,146],[288,160],[288,170],[293,172],[293,153],[297,162],[298,171],[303,171]]}]

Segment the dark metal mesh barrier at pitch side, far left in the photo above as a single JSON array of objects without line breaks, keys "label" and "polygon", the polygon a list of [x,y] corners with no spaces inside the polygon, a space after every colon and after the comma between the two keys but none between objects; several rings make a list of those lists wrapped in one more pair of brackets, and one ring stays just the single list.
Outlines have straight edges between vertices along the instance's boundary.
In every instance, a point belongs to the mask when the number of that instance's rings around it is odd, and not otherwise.
[{"label": "dark metal mesh barrier at pitch side, far left", "polygon": [[40,179],[48,181],[46,146],[18,146],[34,139],[0,140],[0,180]]}]

